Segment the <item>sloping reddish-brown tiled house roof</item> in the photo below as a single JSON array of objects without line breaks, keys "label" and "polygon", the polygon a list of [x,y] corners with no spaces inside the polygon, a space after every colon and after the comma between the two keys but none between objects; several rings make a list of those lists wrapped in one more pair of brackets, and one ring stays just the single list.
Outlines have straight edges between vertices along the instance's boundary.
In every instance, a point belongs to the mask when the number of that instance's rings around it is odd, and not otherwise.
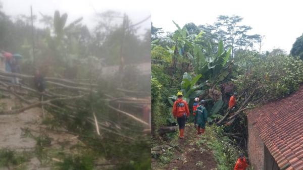
[{"label": "sloping reddish-brown tiled house roof", "polygon": [[247,117],[281,170],[303,169],[303,86]]}]

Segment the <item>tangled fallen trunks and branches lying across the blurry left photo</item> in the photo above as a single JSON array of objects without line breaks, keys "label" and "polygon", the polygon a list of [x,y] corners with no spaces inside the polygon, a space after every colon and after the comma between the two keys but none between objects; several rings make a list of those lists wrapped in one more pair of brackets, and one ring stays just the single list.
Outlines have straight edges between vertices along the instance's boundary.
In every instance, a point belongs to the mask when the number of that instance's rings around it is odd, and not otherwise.
[{"label": "tangled fallen trunks and branches lying across the blurry left photo", "polygon": [[[24,80],[23,84],[11,84],[10,79],[13,77],[22,78]],[[5,78],[5,80],[1,79]],[[79,83],[74,82],[73,80],[61,79],[61,78],[53,78],[46,77],[45,80],[48,89],[46,89],[43,93],[40,93],[35,89],[35,87],[31,87],[31,81],[33,81],[34,76],[23,75],[23,74],[15,74],[15,73],[7,73],[0,71],[0,90],[14,95],[16,98],[20,99],[26,105],[21,108],[13,109],[13,110],[0,110],[0,115],[10,115],[10,114],[19,114],[20,112],[26,111],[33,107],[43,107],[47,108],[48,112],[57,112],[61,115],[66,115],[70,119],[76,120],[77,112],[85,111],[90,112],[89,116],[87,116],[84,120],[95,127],[95,133],[97,136],[102,137],[102,132],[108,132],[111,134],[116,134],[124,139],[134,140],[133,137],[129,137],[124,135],[121,132],[129,131],[133,132],[128,125],[123,125],[114,121],[110,121],[109,119],[102,117],[100,114],[103,111],[96,110],[92,111],[89,107],[81,106],[77,104],[77,101],[90,102],[91,96],[97,94],[97,84],[92,83]],[[20,89],[19,91],[16,89]],[[142,94],[143,92],[135,92],[124,89],[119,89],[122,92],[129,94]],[[19,94],[22,95],[19,95]],[[43,96],[43,101],[37,100]],[[141,118],[135,116],[136,114],[130,114],[127,110],[123,110],[123,105],[127,105],[128,107],[133,108],[141,108],[143,105],[150,104],[150,100],[146,98],[138,98],[136,95],[133,96],[119,96],[114,97],[110,94],[104,94],[105,98],[100,98],[98,100],[105,101],[104,104],[108,106],[108,108],[117,115],[124,115],[126,118],[130,118],[131,120],[138,123],[138,126],[142,126],[141,134],[150,133],[150,125],[143,121]],[[9,97],[9,95],[5,95],[5,97]],[[112,105],[109,105],[111,102]],[[59,105],[58,105],[59,104]],[[117,105],[122,106],[122,108],[118,108]],[[44,110],[44,109],[43,109]],[[93,114],[95,112],[95,114]],[[97,112],[99,113],[97,115]],[[102,121],[100,121],[101,119]],[[138,133],[138,134],[140,134]]]}]

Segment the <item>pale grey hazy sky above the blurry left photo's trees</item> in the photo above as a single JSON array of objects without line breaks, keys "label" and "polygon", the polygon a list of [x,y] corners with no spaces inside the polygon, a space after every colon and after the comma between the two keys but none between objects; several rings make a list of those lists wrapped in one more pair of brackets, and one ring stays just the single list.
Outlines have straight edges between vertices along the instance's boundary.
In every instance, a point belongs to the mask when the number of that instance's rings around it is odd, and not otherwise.
[{"label": "pale grey hazy sky above the blurry left photo's trees", "polygon": [[[55,10],[59,10],[61,14],[68,14],[68,23],[83,17],[83,23],[89,28],[93,28],[96,24],[96,12],[101,13],[108,10],[115,10],[122,14],[125,12],[133,24],[150,16],[149,7],[142,1],[128,3],[128,1],[122,0],[0,0],[0,2],[3,4],[3,11],[10,16],[20,14],[30,16],[30,6],[33,8],[34,15],[38,17],[40,17],[39,12],[54,16]],[[145,32],[146,28],[150,29],[150,19],[140,26],[138,31],[140,33]]]}]

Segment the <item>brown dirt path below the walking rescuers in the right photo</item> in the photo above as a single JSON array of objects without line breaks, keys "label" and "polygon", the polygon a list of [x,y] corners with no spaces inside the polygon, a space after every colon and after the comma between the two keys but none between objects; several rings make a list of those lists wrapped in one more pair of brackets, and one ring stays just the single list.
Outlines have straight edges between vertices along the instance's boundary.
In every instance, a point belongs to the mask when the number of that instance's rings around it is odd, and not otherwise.
[{"label": "brown dirt path below the walking rescuers in the right photo", "polygon": [[[169,170],[215,170],[217,165],[213,152],[206,146],[206,139],[195,134],[195,128],[190,124],[186,126],[185,138],[178,139],[182,153],[175,152],[176,159],[172,160],[165,169]],[[207,134],[206,134],[207,135]]]}]

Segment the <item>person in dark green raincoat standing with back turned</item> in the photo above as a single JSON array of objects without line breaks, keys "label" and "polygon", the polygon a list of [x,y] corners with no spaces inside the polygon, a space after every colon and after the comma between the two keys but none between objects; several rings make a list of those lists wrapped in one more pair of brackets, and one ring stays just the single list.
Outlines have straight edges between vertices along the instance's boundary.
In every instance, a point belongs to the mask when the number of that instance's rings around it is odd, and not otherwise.
[{"label": "person in dark green raincoat standing with back turned", "polygon": [[205,108],[205,100],[200,101],[200,105],[196,109],[196,120],[197,120],[197,135],[204,134],[205,126],[207,123],[207,109]]}]

